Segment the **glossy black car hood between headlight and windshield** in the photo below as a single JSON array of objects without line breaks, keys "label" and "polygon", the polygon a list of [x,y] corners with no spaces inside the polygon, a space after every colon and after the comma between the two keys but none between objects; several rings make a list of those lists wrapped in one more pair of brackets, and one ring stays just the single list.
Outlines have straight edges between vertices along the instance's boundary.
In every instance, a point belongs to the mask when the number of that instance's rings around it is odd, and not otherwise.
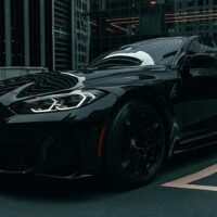
[{"label": "glossy black car hood between headlight and windshield", "polygon": [[[14,77],[0,81],[0,102],[20,101],[27,98],[55,94],[74,89],[95,88],[114,85],[129,85],[133,80],[153,79],[152,68],[118,68],[93,71],[86,69],[80,72],[67,73],[39,73]],[[5,103],[4,103],[5,104]],[[8,103],[7,103],[8,104]]]}]

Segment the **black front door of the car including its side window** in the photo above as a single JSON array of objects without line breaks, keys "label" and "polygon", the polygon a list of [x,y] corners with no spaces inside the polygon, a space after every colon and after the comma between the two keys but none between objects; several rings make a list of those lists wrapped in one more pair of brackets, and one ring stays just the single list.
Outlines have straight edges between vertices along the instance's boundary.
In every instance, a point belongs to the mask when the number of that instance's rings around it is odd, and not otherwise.
[{"label": "black front door of the car including its side window", "polygon": [[[216,55],[210,38],[193,40],[188,55],[206,53]],[[217,139],[217,65],[191,67],[181,73],[177,94],[171,95],[175,117],[180,132],[180,144],[201,145]],[[201,140],[201,141],[200,141]]]}]

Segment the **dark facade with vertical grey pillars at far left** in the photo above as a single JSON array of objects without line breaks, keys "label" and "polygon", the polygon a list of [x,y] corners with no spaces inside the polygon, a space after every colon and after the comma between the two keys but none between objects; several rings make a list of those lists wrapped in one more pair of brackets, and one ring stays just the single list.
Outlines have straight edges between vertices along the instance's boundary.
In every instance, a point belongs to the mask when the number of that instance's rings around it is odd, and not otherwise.
[{"label": "dark facade with vertical grey pillars at far left", "polygon": [[51,0],[0,0],[1,66],[52,67],[51,9]]}]

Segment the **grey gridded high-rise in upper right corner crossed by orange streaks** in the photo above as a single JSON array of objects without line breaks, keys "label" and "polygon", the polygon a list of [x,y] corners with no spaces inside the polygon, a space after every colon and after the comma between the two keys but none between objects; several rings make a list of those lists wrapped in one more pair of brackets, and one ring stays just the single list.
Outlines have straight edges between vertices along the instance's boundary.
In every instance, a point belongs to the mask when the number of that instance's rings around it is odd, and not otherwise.
[{"label": "grey gridded high-rise in upper right corner crossed by orange streaks", "polygon": [[169,35],[202,35],[217,37],[217,0],[176,0],[174,13],[166,23],[174,27]]}]

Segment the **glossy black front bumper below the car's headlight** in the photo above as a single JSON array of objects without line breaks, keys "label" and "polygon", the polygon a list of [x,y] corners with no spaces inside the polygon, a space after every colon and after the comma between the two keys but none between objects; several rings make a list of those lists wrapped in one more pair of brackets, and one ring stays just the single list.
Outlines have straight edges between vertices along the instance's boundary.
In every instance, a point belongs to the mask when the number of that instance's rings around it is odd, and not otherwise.
[{"label": "glossy black front bumper below the car's headlight", "polygon": [[101,168],[98,144],[114,94],[84,107],[0,119],[0,173],[68,177]]}]

